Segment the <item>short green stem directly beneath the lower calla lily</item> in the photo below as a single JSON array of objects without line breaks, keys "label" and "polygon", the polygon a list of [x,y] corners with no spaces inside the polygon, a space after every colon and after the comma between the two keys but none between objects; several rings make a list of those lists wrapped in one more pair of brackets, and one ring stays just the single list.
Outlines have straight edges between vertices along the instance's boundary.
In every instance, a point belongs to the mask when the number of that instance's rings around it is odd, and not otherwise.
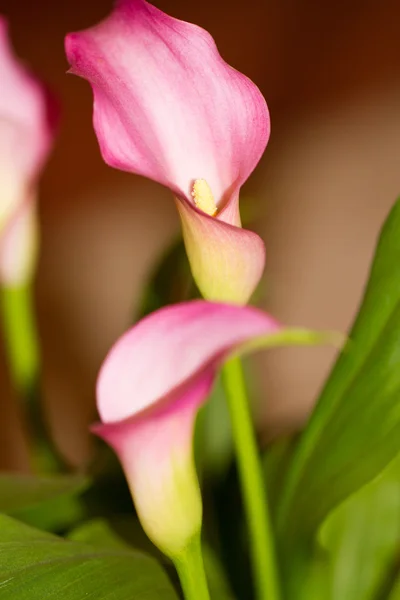
[{"label": "short green stem directly beneath the lower calla lily", "polygon": [[200,535],[174,561],[185,600],[210,600]]}]

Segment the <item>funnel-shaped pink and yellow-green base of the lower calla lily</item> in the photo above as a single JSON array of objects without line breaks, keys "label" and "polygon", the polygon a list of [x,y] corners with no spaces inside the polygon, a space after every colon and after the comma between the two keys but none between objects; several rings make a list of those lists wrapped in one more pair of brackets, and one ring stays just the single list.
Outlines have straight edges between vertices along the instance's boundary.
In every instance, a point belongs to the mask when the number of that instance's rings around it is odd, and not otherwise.
[{"label": "funnel-shaped pink and yellow-green base of the lower calla lily", "polygon": [[192,440],[199,404],[209,395],[213,379],[208,369],[157,410],[92,427],[117,454],[147,535],[171,557],[179,555],[201,528]]}]

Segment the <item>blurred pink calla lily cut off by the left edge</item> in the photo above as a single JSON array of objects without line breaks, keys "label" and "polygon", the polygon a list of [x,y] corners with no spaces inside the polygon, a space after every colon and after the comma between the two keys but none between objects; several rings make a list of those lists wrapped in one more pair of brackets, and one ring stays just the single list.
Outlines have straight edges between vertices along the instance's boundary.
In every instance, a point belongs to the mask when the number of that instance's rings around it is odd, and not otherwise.
[{"label": "blurred pink calla lily cut off by the left edge", "polygon": [[54,137],[54,113],[41,83],[14,56],[0,16],[0,279],[29,277],[36,246],[37,180]]}]

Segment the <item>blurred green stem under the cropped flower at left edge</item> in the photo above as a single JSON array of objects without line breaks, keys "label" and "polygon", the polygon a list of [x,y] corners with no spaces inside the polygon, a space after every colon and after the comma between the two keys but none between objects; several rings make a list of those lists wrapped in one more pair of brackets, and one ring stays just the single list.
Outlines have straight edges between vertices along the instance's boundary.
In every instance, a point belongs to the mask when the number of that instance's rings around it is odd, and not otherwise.
[{"label": "blurred green stem under the cropped flower at left edge", "polygon": [[2,287],[1,312],[11,380],[21,398],[24,426],[31,438],[32,466],[53,471],[60,463],[39,402],[40,350],[32,285]]}]

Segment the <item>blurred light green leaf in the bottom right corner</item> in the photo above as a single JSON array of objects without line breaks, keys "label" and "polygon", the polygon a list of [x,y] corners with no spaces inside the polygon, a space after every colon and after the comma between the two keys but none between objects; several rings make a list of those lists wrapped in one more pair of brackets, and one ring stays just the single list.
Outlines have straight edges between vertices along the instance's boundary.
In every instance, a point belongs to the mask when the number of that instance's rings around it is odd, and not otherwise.
[{"label": "blurred light green leaf in the bottom right corner", "polygon": [[400,546],[400,460],[348,498],[322,526],[326,600],[373,600]]}]

